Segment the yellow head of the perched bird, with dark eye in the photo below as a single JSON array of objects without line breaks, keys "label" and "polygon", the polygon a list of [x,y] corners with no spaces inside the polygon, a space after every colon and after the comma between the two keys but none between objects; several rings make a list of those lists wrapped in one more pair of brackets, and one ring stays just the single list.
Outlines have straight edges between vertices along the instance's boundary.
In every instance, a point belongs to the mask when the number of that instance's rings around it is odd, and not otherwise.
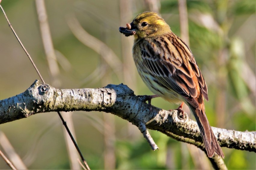
[{"label": "yellow head of the perched bird, with dark eye", "polygon": [[136,31],[135,40],[155,37],[170,32],[169,25],[156,12],[143,12],[133,19],[131,30]]}]

